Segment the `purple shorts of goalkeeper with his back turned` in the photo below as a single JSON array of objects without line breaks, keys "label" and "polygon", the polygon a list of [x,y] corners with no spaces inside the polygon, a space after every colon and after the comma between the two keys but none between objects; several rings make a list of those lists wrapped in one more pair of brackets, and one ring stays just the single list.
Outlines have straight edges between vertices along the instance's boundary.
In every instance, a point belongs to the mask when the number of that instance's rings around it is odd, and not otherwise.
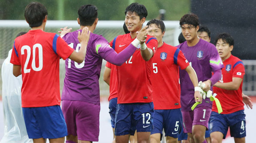
[{"label": "purple shorts of goalkeeper with his back turned", "polygon": [[77,136],[78,140],[99,140],[100,105],[83,101],[62,100],[61,108],[69,135]]}]

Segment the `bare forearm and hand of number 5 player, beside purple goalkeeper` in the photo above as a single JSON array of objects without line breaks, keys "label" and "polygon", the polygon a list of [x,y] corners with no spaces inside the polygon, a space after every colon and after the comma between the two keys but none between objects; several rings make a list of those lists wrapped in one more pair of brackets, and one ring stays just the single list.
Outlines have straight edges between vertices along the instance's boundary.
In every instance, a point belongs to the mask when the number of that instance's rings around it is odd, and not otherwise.
[{"label": "bare forearm and hand of number 5 player, beside purple goalkeeper", "polygon": [[[198,87],[198,79],[195,73],[195,70],[190,65],[185,68],[186,72],[189,74],[189,78],[194,85],[194,87]],[[199,91],[195,91],[194,93],[195,102],[202,102],[202,96],[200,95]]]}]

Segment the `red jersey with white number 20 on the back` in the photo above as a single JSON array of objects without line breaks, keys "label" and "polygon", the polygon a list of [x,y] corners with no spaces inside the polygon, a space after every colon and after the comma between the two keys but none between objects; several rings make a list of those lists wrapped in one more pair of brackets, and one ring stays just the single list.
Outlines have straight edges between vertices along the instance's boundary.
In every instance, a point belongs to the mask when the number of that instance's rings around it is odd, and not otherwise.
[{"label": "red jersey with white number 20 on the back", "polygon": [[60,105],[59,62],[73,52],[55,33],[30,30],[15,39],[11,63],[21,65],[22,107]]}]

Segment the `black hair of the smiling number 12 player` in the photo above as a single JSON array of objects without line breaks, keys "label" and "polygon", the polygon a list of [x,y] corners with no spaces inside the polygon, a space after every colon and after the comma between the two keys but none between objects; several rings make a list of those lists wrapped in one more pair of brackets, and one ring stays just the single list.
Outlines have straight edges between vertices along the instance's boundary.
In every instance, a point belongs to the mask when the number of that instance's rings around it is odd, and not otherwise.
[{"label": "black hair of the smiling number 12 player", "polygon": [[139,3],[131,3],[125,9],[125,15],[126,14],[132,15],[133,13],[138,15],[140,17],[140,20],[142,18],[146,18],[146,16],[148,15],[148,11],[146,10],[146,7],[142,4],[139,4]]}]

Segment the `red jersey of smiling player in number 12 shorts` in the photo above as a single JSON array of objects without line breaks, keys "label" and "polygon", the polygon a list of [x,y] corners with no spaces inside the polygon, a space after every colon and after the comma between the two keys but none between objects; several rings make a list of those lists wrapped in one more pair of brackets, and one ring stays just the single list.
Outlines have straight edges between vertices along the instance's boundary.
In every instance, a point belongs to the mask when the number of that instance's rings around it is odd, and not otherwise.
[{"label": "red jersey of smiling player in number 12 shorts", "polygon": [[[131,42],[130,33],[119,35],[110,42],[110,46],[120,53]],[[157,48],[156,38],[147,35],[146,45],[155,53]],[[117,103],[137,103],[152,102],[152,85],[150,81],[150,68],[152,58],[149,61],[143,60],[140,49],[121,66],[116,66],[118,80],[118,99]]]}]

